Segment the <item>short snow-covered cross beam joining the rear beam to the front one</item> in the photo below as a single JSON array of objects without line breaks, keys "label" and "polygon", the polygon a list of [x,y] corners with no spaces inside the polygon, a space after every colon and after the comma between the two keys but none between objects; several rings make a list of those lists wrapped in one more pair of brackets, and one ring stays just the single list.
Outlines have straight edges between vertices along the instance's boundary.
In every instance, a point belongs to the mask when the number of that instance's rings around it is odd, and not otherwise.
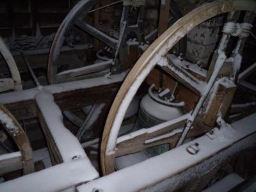
[{"label": "short snow-covered cross beam joining the rear beam to the front one", "polygon": [[54,102],[52,93],[42,90],[35,95],[35,100],[52,164],[87,158],[79,140],[63,124],[61,110]]}]

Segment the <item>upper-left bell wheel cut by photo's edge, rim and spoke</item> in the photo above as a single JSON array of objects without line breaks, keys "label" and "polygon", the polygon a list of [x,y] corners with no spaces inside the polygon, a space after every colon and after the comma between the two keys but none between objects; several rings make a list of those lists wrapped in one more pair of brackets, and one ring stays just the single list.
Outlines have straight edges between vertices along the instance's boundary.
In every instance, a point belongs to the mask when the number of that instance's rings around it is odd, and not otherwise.
[{"label": "upper-left bell wheel cut by photo's edge, rim and spoke", "polygon": [[0,37],[0,53],[3,56],[4,61],[8,65],[10,70],[11,78],[0,79],[0,92],[7,90],[21,91],[22,84],[20,80],[19,70],[13,59],[11,52],[8,47],[4,44],[3,38]]}]

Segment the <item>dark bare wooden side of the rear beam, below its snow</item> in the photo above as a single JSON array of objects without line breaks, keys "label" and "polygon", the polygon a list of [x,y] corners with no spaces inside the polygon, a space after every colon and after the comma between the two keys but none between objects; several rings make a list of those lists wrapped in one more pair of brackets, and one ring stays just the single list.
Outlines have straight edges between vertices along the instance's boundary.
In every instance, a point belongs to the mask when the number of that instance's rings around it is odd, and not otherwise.
[{"label": "dark bare wooden side of the rear beam, below its snow", "polygon": [[[81,108],[91,104],[112,101],[118,91],[120,83],[95,86],[92,88],[84,88],[71,90],[68,92],[55,93],[54,100],[60,107],[61,111]],[[15,92],[13,92],[15,94]],[[25,92],[20,92],[20,98]],[[12,95],[12,93],[11,93]],[[12,96],[10,96],[12,97]],[[36,117],[35,100],[19,100],[17,102],[4,104],[8,110],[17,118],[17,120],[25,120]]]}]

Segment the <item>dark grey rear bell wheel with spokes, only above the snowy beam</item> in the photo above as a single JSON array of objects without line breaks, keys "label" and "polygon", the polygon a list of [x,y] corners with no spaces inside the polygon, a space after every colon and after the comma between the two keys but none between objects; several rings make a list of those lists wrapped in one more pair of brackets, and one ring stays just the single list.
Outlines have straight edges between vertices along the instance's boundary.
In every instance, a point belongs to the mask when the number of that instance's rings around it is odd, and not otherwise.
[{"label": "dark grey rear bell wheel with spokes, only above the snowy beam", "polygon": [[[122,72],[127,70],[127,67],[123,61],[116,61],[116,58],[120,55],[120,58],[125,58],[124,55],[124,47],[128,40],[128,38],[135,38],[138,42],[152,42],[154,38],[157,36],[157,29],[152,31],[152,33],[148,35],[144,35],[144,26],[143,26],[143,17],[144,17],[144,9],[145,6],[140,6],[138,9],[138,21],[136,25],[129,26],[127,23],[129,17],[129,10],[131,6],[123,6],[122,19],[120,21],[120,29],[115,31],[114,29],[109,29],[105,26],[101,26],[102,29],[97,29],[88,22],[85,22],[86,15],[91,12],[95,12],[95,10],[102,9],[106,6],[102,6],[101,8],[93,7],[99,5],[100,0],[81,0],[79,1],[72,10],[68,13],[67,17],[63,20],[58,29],[56,36],[54,37],[54,41],[52,42],[51,51],[49,54],[48,66],[47,66],[47,77],[49,83],[62,83],[68,81],[76,81],[79,79],[90,79],[93,77],[104,76],[104,74],[108,74],[110,71]],[[117,3],[120,3],[118,1]],[[117,3],[111,3],[109,5],[114,5]],[[181,13],[179,9],[174,3],[170,4],[170,13],[172,13],[171,19],[169,19],[169,26],[173,24],[174,21],[181,17]],[[92,35],[93,38],[96,38],[104,45],[107,45],[111,50],[113,50],[113,54],[111,58],[103,58],[97,57],[102,60],[100,62],[94,62],[92,65],[86,65],[82,67],[77,66],[69,66],[68,70],[61,68],[61,63],[58,61],[60,57],[60,52],[65,44],[65,39],[68,37],[71,29],[78,29],[82,32],[86,32],[86,34]],[[131,32],[131,33],[130,33]],[[131,35],[132,34],[132,35]],[[135,36],[134,36],[135,34]],[[90,38],[90,36],[89,36]],[[74,45],[79,50],[83,49],[92,49],[92,44],[87,44],[88,46],[83,47],[82,45]],[[186,50],[186,44],[182,45],[182,49],[180,51]],[[128,67],[129,68],[129,67]]]}]

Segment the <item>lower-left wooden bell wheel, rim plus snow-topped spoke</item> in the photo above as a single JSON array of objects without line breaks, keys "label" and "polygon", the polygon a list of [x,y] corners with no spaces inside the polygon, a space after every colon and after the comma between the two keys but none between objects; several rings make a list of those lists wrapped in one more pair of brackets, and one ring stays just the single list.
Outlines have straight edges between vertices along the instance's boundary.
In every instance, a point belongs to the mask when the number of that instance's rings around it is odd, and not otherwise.
[{"label": "lower-left wooden bell wheel, rim plus snow-topped spoke", "polygon": [[17,122],[15,117],[3,106],[3,104],[0,104],[0,124],[3,125],[3,129],[8,132],[13,141],[15,141],[21,154],[21,156],[19,156],[17,155],[17,152],[13,152],[2,157],[0,175],[19,170],[20,168],[22,168],[24,175],[33,173],[33,150],[28,136],[20,126],[19,122]]}]

